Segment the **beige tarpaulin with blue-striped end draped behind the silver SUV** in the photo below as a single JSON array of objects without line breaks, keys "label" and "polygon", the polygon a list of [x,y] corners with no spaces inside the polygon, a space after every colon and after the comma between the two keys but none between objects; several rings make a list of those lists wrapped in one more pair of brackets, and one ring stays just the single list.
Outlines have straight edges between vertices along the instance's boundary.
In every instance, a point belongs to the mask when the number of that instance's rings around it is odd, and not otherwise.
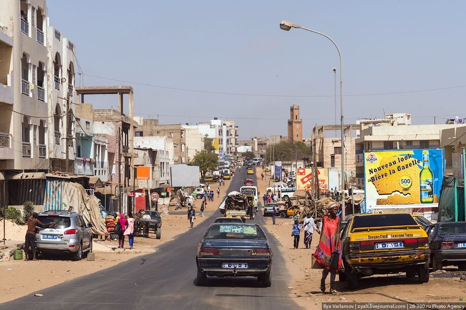
[{"label": "beige tarpaulin with blue-striped end draped behind the silver SUV", "polygon": [[71,210],[91,223],[92,233],[107,232],[102,214],[98,208],[99,200],[87,195],[81,184],[64,180],[47,180],[45,191],[45,210]]}]

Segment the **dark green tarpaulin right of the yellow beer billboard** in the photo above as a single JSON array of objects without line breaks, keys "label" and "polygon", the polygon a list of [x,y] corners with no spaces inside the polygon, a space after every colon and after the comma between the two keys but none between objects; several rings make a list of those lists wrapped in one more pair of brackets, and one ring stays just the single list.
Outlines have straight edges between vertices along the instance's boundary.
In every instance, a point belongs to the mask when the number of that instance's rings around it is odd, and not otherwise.
[{"label": "dark green tarpaulin right of the yellow beer billboard", "polygon": [[[439,222],[452,222],[455,220],[455,179],[453,176],[444,176],[439,201]],[[458,205],[458,221],[464,220],[464,182],[456,179],[456,202]]]}]

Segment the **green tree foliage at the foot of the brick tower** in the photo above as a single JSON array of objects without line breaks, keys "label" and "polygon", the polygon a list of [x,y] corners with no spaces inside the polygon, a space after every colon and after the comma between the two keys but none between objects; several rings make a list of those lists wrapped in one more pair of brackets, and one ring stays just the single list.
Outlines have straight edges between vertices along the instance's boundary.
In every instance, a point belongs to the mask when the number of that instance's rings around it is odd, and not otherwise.
[{"label": "green tree foliage at the foot of the brick tower", "polygon": [[277,161],[294,161],[294,160],[303,160],[303,158],[311,157],[311,146],[304,144],[303,142],[289,142],[282,141],[280,143],[269,145],[267,148],[267,162],[274,160]]}]

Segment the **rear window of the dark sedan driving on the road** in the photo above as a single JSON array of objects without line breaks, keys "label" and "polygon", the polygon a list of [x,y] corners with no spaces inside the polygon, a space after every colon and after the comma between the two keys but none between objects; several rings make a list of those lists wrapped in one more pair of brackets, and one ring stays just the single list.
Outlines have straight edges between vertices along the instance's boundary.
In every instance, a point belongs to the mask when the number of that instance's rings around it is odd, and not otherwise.
[{"label": "rear window of the dark sedan driving on the road", "polygon": [[224,224],[212,225],[206,233],[206,239],[265,239],[265,235],[258,226]]}]

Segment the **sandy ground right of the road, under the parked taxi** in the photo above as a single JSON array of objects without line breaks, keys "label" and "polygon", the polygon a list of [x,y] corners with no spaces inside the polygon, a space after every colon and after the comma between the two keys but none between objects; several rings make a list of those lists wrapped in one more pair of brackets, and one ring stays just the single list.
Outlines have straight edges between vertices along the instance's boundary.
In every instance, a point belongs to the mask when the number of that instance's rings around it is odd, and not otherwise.
[{"label": "sandy ground right of the road, under the parked taxi", "polygon": [[[265,192],[269,181],[260,181],[260,171],[257,174],[259,191]],[[431,272],[429,282],[422,284],[417,283],[417,278],[406,279],[404,273],[365,277],[360,280],[356,290],[347,290],[345,282],[339,282],[337,275],[335,289],[338,294],[328,293],[330,277],[326,280],[326,292],[322,293],[319,289],[322,270],[311,268],[311,256],[320,235],[314,233],[311,249],[306,249],[302,233],[299,249],[296,250],[291,237],[291,219],[277,218],[276,225],[273,225],[270,217],[265,222],[269,232],[279,240],[280,251],[286,258],[286,267],[292,279],[288,288],[290,294],[305,308],[321,309],[322,302],[459,302],[459,298],[466,297],[466,283],[459,282],[460,275],[466,272],[458,271],[454,266]]]}]

